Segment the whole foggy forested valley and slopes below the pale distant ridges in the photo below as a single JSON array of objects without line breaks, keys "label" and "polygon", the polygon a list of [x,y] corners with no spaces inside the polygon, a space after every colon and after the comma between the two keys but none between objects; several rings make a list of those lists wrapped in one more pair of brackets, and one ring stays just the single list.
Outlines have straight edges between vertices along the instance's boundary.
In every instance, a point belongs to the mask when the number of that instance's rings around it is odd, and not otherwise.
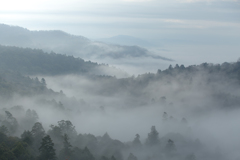
[{"label": "whole foggy forested valley and slopes below the pale distant ridges", "polygon": [[0,46],[0,159],[238,160],[240,62],[109,68]]}]

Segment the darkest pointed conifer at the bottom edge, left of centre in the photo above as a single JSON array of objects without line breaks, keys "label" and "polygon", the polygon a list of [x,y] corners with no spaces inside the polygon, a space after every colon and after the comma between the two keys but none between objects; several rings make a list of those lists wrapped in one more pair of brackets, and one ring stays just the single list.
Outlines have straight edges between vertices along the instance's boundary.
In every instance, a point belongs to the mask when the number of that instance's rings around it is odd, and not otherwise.
[{"label": "darkest pointed conifer at the bottom edge, left of centre", "polygon": [[41,146],[39,147],[40,155],[38,156],[38,160],[55,160],[56,153],[54,149],[54,143],[49,135],[43,137]]}]

